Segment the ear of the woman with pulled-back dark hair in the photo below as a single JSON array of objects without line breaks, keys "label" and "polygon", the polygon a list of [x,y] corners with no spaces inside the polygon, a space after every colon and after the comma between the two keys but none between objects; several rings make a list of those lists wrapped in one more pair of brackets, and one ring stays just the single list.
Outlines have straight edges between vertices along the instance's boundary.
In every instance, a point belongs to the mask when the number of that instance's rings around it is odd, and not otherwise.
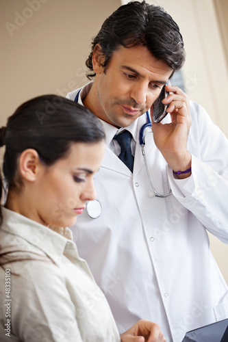
[{"label": "ear of the woman with pulled-back dark hair", "polygon": [[29,182],[36,181],[39,168],[40,158],[36,150],[33,148],[24,150],[19,161],[19,170],[22,178]]}]

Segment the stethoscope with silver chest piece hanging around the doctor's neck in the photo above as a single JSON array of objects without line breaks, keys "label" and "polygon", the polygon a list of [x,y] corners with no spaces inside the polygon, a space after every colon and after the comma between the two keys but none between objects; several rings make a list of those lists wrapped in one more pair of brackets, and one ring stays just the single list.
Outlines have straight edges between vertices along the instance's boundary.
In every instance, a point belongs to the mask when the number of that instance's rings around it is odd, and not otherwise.
[{"label": "stethoscope with silver chest piece hanging around the doctor's neck", "polygon": [[[74,102],[78,102],[81,89],[79,89],[79,91],[77,92]],[[153,189],[154,196],[160,197],[160,198],[166,198],[166,197],[172,195],[172,190],[169,189],[169,192],[167,194],[160,194],[159,192],[157,192],[157,190],[153,186],[153,183],[151,180],[151,174],[149,172],[149,167],[148,167],[148,163],[147,163],[147,155],[146,155],[146,151],[145,151],[145,136],[147,135],[147,133],[145,134],[144,131],[145,131],[145,129],[147,129],[147,127],[151,127],[152,124],[151,124],[151,118],[149,116],[149,111],[147,111],[146,115],[147,115],[147,122],[142,125],[142,127],[140,129],[140,137],[139,137],[140,145],[141,145],[141,149],[142,149],[142,155],[144,158],[144,164],[145,164],[145,167],[147,170],[147,176],[149,179],[149,183]],[[88,215],[90,216],[90,218],[99,218],[99,216],[101,215],[101,211],[102,211],[101,203],[99,202],[99,200],[89,200],[87,202],[87,205],[86,205],[86,211],[87,211]]]}]

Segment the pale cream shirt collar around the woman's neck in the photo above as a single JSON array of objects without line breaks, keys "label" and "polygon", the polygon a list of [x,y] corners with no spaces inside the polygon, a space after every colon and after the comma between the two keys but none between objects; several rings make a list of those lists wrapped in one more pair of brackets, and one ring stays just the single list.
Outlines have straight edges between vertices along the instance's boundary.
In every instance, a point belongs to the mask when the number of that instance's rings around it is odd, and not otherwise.
[{"label": "pale cream shirt collar around the woman's neck", "polygon": [[[3,231],[25,239],[31,244],[31,248],[35,246],[42,250],[53,261],[59,261],[66,249],[77,252],[69,228],[48,228],[5,207],[1,207],[1,211],[3,213],[3,222],[1,224]],[[68,237],[71,237],[71,239],[68,239]]]}]

